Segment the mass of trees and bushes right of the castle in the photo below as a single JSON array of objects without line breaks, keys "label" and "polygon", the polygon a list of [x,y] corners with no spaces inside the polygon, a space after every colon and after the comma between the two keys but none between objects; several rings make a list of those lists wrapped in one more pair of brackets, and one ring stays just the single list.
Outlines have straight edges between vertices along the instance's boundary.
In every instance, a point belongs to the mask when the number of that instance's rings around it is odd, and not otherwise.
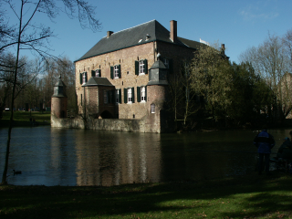
[{"label": "mass of trees and bushes right of the castle", "polygon": [[246,49],[240,64],[217,45],[203,46],[170,75],[170,110],[183,130],[207,119],[227,128],[283,124],[292,110],[291,73],[292,29]]}]

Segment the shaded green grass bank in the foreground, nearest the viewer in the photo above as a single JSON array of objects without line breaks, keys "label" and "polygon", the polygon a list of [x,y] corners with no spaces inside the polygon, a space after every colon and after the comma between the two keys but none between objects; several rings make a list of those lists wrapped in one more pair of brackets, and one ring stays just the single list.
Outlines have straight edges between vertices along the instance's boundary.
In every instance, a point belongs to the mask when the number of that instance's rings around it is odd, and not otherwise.
[{"label": "shaded green grass bank in the foreground, nearest the viewer", "polygon": [[291,175],[113,187],[0,186],[0,218],[292,218]]}]

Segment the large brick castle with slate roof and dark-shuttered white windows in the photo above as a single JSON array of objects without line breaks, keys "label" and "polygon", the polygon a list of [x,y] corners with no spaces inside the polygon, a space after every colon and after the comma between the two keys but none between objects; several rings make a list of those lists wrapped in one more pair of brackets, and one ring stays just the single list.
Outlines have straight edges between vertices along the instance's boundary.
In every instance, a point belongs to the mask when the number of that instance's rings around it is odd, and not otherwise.
[{"label": "large brick castle with slate roof and dark-shuttered white windows", "polygon": [[62,113],[55,113],[54,107],[61,104],[54,106],[52,101],[52,126],[172,131],[172,112],[165,108],[170,98],[168,75],[178,74],[183,60],[191,60],[201,46],[177,36],[174,20],[170,31],[156,20],[116,33],[108,31],[75,61],[78,114],[82,120],[57,120]]}]

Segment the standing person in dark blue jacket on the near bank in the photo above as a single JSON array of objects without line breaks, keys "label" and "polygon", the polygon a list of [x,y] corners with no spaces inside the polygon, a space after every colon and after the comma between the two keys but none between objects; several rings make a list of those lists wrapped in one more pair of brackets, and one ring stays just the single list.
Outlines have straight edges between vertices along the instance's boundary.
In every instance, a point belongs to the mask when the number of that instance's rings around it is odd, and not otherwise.
[{"label": "standing person in dark blue jacket on the near bank", "polygon": [[271,149],[275,146],[274,137],[267,130],[262,130],[255,136],[254,144],[258,152],[258,174],[262,174],[264,158],[266,174],[269,174]]}]

